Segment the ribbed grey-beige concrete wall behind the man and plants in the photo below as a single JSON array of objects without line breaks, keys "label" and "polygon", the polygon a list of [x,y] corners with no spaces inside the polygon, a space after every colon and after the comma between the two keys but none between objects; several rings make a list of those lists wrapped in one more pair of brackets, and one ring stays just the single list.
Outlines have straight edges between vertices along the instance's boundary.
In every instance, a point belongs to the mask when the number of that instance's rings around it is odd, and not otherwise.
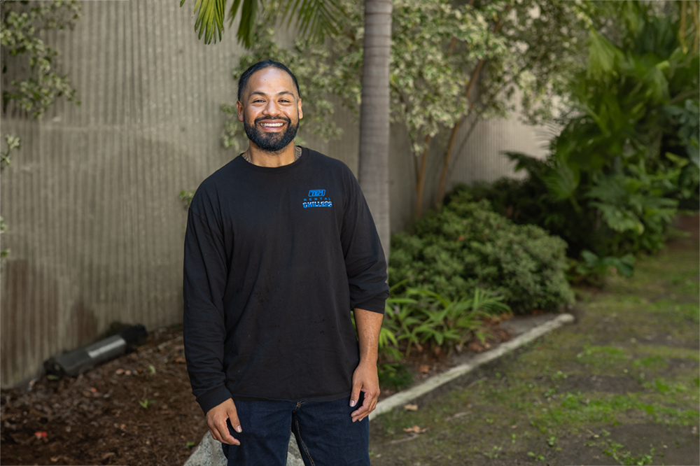
[{"label": "ribbed grey-beige concrete wall behind the man and plants", "polygon": [[[153,329],[181,321],[182,189],[236,154],[220,143],[223,102],[235,101],[235,34],[204,45],[191,10],[174,0],[85,1],[73,31],[45,36],[62,53],[82,101],[59,100],[42,120],[2,115],[22,148],[2,175],[0,384],[34,376],[50,355],[93,341],[113,321]],[[305,139],[356,171],[358,127],[339,109],[337,141]],[[515,126],[514,126],[515,125]],[[524,147],[514,120],[477,129],[452,181],[510,172],[498,150]],[[409,225],[415,202],[405,132],[391,134],[391,222]],[[433,154],[426,192],[434,192]],[[427,199],[427,198],[426,198]],[[430,200],[426,200],[426,206]]]}]

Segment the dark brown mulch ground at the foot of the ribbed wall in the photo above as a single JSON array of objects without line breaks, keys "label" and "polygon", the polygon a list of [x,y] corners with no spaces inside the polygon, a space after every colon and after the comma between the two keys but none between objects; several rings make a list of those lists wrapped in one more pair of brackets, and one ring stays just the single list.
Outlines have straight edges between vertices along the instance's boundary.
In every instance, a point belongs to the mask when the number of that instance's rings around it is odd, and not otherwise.
[{"label": "dark brown mulch ground at the foot of the ribbed wall", "polygon": [[172,327],[77,378],[2,390],[0,422],[2,465],[182,465],[207,432]]}]

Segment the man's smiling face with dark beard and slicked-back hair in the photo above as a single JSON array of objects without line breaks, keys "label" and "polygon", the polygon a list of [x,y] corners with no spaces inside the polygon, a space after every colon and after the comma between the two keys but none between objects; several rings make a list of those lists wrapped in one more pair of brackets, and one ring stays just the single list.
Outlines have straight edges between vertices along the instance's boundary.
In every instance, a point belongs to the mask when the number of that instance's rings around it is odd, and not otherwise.
[{"label": "man's smiling face with dark beard and slicked-back hair", "polygon": [[279,152],[294,140],[303,118],[302,101],[292,77],[269,67],[248,78],[241,99],[236,103],[238,120],[246,135],[265,152]]}]

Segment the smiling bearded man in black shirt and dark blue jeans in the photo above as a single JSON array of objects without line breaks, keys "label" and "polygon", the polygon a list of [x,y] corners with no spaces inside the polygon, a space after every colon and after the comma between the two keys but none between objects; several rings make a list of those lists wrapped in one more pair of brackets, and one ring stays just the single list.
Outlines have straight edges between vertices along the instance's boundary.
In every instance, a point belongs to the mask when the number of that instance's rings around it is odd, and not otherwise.
[{"label": "smiling bearded man in black shirt and dark blue jeans", "polygon": [[[248,150],[197,189],[185,239],[190,382],[229,465],[369,465],[388,295],[370,211],[345,164],[294,145],[283,64],[239,78]],[[351,320],[355,317],[357,337]]]}]

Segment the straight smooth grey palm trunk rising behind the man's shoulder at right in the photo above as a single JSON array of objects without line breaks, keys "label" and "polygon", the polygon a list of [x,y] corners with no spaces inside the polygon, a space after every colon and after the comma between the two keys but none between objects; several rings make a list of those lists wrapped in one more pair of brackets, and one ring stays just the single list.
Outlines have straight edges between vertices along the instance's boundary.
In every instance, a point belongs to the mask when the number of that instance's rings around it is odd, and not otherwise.
[{"label": "straight smooth grey palm trunk rising behind the man's shoulder at right", "polygon": [[360,188],[389,257],[389,57],[391,0],[365,0],[360,106]]}]

